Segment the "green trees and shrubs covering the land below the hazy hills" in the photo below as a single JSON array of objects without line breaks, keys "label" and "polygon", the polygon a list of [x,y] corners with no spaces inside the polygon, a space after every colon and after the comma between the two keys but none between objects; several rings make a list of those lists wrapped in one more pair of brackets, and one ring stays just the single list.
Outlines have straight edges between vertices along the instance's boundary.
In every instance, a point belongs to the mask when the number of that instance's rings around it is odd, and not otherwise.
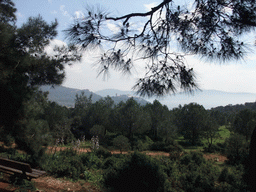
[{"label": "green trees and shrubs covering the land below the hazy hills", "polygon": [[[67,108],[48,101],[42,92],[26,110],[27,127],[33,126],[31,118],[47,126],[38,135],[42,142],[28,140],[23,147],[16,143],[25,154],[2,146],[1,156],[39,166],[53,177],[84,180],[101,191],[133,191],[131,186],[140,191],[249,189],[248,138],[256,117],[252,110],[224,113],[196,103],[169,110],[157,100],[141,106],[131,98],[116,105],[110,97],[93,103],[84,94],[77,94],[74,108]],[[47,146],[51,150],[44,153]],[[206,160],[210,154],[215,158]],[[219,162],[221,156],[227,160]]]}]

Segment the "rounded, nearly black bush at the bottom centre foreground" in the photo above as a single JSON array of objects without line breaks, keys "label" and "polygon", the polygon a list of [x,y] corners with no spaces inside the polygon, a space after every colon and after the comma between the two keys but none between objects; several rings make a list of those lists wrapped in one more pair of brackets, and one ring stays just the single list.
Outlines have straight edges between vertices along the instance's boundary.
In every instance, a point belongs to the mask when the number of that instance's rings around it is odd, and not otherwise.
[{"label": "rounded, nearly black bush at the bottom centre foreground", "polygon": [[164,191],[166,175],[152,158],[135,152],[121,167],[113,167],[104,174],[104,186],[109,191]]}]

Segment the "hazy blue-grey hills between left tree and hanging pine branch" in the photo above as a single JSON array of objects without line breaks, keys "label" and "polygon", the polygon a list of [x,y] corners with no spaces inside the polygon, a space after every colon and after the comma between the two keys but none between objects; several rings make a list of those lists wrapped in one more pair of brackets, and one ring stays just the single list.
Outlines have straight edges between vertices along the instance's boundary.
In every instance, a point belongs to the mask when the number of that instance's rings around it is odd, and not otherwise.
[{"label": "hazy blue-grey hills between left tree and hanging pine branch", "polygon": [[[84,92],[84,95],[89,97],[92,94],[92,102],[95,103],[96,101],[100,100],[103,97],[106,97],[107,95],[111,96],[115,104],[118,104],[120,101],[126,102],[129,98],[132,96],[130,94],[123,94],[123,95],[115,95],[112,96],[110,94],[101,96],[99,94],[93,93],[89,91],[88,89],[80,90],[80,89],[73,89],[68,88],[64,86],[41,86],[40,90],[46,92],[49,92],[48,99],[50,101],[54,101],[60,105],[64,105],[67,107],[74,107],[75,105],[75,98],[76,94],[80,95],[82,92]],[[128,92],[127,92],[128,93]],[[148,101],[139,98],[139,97],[133,97],[135,101],[137,101],[140,105],[145,105],[148,103]]]}]

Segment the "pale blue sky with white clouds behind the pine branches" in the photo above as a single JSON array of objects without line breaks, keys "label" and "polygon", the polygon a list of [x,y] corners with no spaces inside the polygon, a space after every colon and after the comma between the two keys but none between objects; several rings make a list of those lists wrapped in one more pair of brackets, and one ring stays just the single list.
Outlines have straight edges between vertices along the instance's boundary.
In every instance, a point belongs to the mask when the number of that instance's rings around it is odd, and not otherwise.
[{"label": "pale blue sky with white clouds behind the pine branches", "polygon": [[[182,0],[180,0],[182,1]],[[74,18],[83,16],[87,6],[101,7],[112,16],[121,16],[131,12],[146,12],[156,6],[160,0],[13,0],[17,8],[17,26],[21,26],[30,16],[38,16],[50,23],[57,19],[58,36],[51,45],[66,44],[63,30],[67,29]],[[190,1],[188,0],[188,4]],[[256,36],[250,35],[245,42],[255,42]],[[50,50],[50,48],[49,48]],[[189,67],[193,67],[200,89],[226,92],[256,93],[256,52],[252,46],[244,60],[228,63],[208,62],[205,59],[190,56],[186,59]],[[102,89],[131,90],[140,77],[140,66],[130,76],[111,71],[110,77],[103,79],[93,67],[93,53],[84,53],[82,61],[66,67],[66,79],[63,86],[99,91]]]}]

